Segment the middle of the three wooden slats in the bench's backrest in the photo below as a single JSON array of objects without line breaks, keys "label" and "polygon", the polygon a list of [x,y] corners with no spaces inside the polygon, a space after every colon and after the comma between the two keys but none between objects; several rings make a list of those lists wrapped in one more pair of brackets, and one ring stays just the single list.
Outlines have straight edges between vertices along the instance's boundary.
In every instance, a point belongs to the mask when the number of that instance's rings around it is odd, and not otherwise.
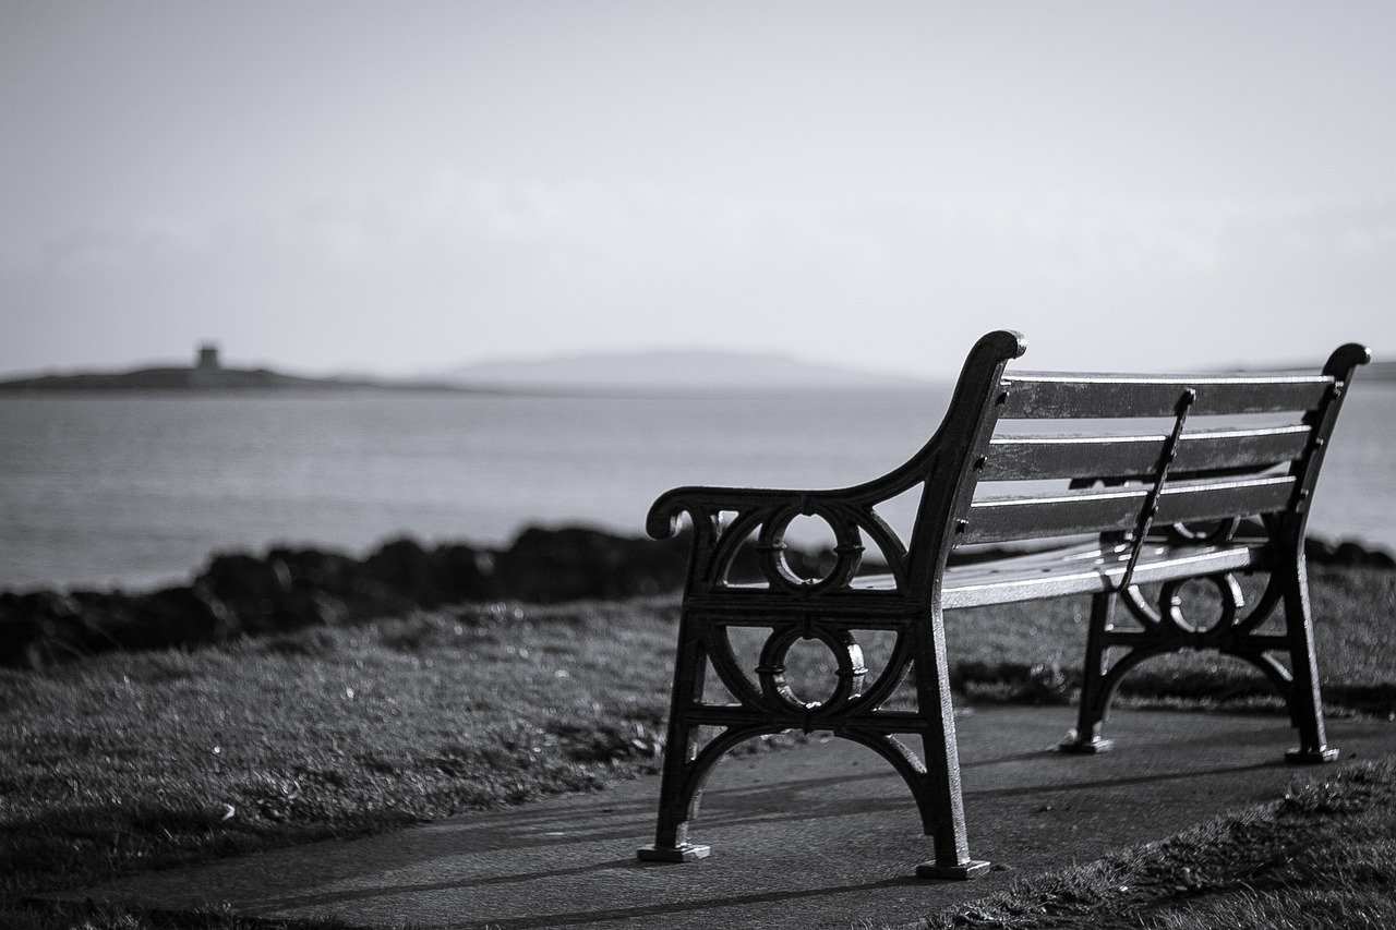
[{"label": "middle of the three wooden slats in the bench's backrest", "polygon": [[[1184,433],[1174,472],[1222,468],[1262,469],[1304,454],[1311,427]],[[1157,436],[1002,436],[988,447],[980,480],[1053,478],[1145,478],[1157,471],[1167,437]]]}]

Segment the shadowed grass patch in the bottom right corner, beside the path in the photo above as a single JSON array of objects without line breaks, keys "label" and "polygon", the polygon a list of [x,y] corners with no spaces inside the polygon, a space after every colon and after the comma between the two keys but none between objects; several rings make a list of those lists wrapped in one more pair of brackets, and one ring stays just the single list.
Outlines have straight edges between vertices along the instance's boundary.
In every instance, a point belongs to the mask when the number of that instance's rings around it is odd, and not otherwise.
[{"label": "shadowed grass patch in the bottom right corner, beside the path", "polygon": [[1396,764],[1367,762],[1157,843],[1019,880],[927,930],[1385,930],[1396,926]]}]

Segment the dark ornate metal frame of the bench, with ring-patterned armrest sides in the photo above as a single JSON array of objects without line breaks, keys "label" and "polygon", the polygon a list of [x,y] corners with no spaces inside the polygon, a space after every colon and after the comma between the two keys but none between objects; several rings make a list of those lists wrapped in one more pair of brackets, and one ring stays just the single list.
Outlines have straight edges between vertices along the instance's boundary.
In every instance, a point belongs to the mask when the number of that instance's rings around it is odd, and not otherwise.
[{"label": "dark ornate metal frame of the bench, with ring-patterned armrest sides", "polygon": [[[965,362],[940,430],[905,465],[877,480],[824,492],[681,487],[655,503],[648,518],[651,536],[674,535],[687,514],[692,549],[678,627],[656,838],[638,852],[641,859],[687,862],[708,855],[706,846],[688,841],[688,824],[697,815],[704,779],[725,753],[764,735],[828,730],[867,746],[906,781],[935,853],[934,860],[917,867],[917,876],[969,878],[988,869],[969,855],[941,589],[949,553],[969,525],[977,472],[1008,398],[1005,366],[1025,348],[1016,332],[981,338]],[[1266,524],[1268,554],[1259,566],[1272,573],[1266,593],[1255,610],[1238,619],[1244,599],[1234,577],[1209,577],[1223,595],[1224,609],[1217,624],[1201,633],[1174,603],[1178,586],[1191,577],[1168,581],[1157,610],[1132,584],[1141,547],[1150,536],[1153,507],[1191,406],[1192,397],[1184,392],[1153,493],[1131,533],[1132,553],[1122,581],[1093,598],[1081,714],[1064,748],[1108,748],[1100,728],[1120,679],[1150,656],[1191,647],[1215,648],[1256,663],[1286,695],[1300,729],[1301,747],[1291,758],[1332,758],[1318,698],[1302,539],[1308,500],[1343,387],[1367,357],[1361,346],[1343,346],[1323,370],[1333,384],[1316,412],[1311,448],[1293,466],[1294,500],[1284,514]],[[916,487],[920,487],[920,510],[903,545],[877,507]],[[801,515],[822,518],[835,535],[835,564],[821,578],[801,578],[786,564],[785,532]],[[1234,531],[1234,525],[1228,528]],[[761,580],[733,584],[732,566],[752,539]],[[867,545],[878,550],[886,566],[884,586],[856,584]],[[1139,631],[1114,628],[1117,599],[1139,620]],[[1256,627],[1282,603],[1286,634],[1258,633]],[[734,627],[771,630],[755,681],[741,670],[733,651],[729,631]],[[866,688],[867,670],[853,630],[888,630],[896,635],[885,667]],[[818,640],[835,654],[836,684],[825,701],[800,701],[785,680],[786,654],[800,640]],[[1111,663],[1110,652],[1117,648],[1127,652]],[[1293,672],[1270,655],[1276,651],[1289,654]],[[709,673],[734,701],[705,700]],[[913,684],[914,709],[884,708],[903,680]],[[706,740],[705,728],[716,730]],[[920,740],[920,757],[907,747],[907,737]]]}]

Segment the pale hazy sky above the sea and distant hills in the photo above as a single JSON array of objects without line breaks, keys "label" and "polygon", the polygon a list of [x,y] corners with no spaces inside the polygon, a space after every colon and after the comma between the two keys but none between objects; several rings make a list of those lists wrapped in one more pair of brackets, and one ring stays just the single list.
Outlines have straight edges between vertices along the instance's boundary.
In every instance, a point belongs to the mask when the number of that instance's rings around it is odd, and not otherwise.
[{"label": "pale hazy sky above the sea and distant hills", "polygon": [[0,371],[1393,357],[1393,47],[1389,0],[6,0]]}]

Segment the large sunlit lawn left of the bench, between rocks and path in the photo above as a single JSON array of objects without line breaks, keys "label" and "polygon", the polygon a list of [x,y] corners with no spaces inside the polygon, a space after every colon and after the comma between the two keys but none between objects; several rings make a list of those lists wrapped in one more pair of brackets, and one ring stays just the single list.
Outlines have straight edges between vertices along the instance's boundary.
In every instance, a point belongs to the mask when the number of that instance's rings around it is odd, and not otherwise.
[{"label": "large sunlit lawn left of the bench, between rocks and path", "polygon": [[496,605],[3,672],[0,926],[70,926],[18,905],[42,890],[653,771],[669,613]]}]

